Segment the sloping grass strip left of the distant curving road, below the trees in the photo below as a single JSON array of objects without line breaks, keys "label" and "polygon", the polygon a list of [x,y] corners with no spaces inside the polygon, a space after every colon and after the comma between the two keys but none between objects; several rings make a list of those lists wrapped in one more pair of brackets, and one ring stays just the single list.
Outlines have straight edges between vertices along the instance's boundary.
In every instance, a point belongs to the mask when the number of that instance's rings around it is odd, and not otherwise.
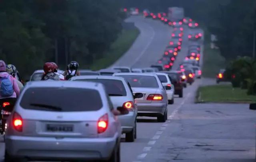
[{"label": "sloping grass strip left of the distant curving road, below the trees", "polygon": [[138,28],[134,29],[124,29],[116,41],[111,45],[110,50],[106,52],[102,59],[94,61],[91,70],[100,70],[102,68],[107,68],[115,61],[117,61],[134,43],[135,39],[138,37],[140,31]]}]

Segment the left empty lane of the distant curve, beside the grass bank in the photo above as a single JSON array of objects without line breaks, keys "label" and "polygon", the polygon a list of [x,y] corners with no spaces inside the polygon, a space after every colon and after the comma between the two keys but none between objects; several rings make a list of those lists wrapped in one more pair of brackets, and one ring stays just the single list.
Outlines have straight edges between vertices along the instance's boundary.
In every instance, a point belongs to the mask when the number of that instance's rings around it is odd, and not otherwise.
[{"label": "left empty lane of the distant curve, beside the grass bank", "polygon": [[134,25],[140,30],[140,34],[134,41],[132,46],[120,59],[118,59],[112,66],[130,66],[140,53],[151,44],[149,40],[153,40],[156,36],[154,29],[148,24],[142,16],[131,16],[126,19],[127,22],[134,22]]}]

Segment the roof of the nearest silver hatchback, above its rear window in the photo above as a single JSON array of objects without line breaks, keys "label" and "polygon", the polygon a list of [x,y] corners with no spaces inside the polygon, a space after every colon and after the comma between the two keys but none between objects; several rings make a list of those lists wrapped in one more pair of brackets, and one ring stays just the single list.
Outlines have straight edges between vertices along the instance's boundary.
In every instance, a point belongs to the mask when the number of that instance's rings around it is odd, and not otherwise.
[{"label": "roof of the nearest silver hatchback, above its rear window", "polygon": [[[103,84],[101,83],[95,83],[95,82],[81,82],[81,81],[74,81],[74,82],[68,82],[68,81],[33,81],[28,82],[25,86],[26,88],[31,87],[59,87],[59,88],[89,88],[89,89],[100,89],[103,88]],[[24,87],[24,88],[25,88]]]}]

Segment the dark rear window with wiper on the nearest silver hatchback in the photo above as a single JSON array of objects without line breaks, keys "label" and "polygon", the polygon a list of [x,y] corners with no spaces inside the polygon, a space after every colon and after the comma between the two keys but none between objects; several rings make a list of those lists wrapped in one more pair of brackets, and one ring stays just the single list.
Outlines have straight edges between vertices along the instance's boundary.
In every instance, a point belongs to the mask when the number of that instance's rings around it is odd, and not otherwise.
[{"label": "dark rear window with wiper on the nearest silver hatchback", "polygon": [[102,107],[102,99],[93,89],[36,87],[24,92],[20,106],[40,111],[97,111]]}]

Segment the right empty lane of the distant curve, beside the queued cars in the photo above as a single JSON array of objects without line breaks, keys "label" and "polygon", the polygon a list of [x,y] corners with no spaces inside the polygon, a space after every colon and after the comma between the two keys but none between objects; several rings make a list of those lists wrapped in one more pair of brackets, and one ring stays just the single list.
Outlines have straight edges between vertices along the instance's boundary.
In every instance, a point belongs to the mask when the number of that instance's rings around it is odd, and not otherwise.
[{"label": "right empty lane of the distant curve, beside the queued cars", "polygon": [[171,38],[172,27],[159,20],[145,19],[155,31],[155,37],[144,53],[138,53],[137,59],[131,64],[132,68],[145,68],[155,64],[164,55],[164,49]]}]

